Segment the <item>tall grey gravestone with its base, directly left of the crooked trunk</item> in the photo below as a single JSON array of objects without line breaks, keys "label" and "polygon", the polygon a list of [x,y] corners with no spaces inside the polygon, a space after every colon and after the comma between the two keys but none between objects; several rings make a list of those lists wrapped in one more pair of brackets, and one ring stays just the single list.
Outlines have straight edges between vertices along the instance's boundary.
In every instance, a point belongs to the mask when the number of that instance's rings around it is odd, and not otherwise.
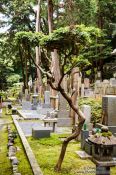
[{"label": "tall grey gravestone with its base, directly left of the crooked trunk", "polygon": [[67,101],[59,94],[59,112],[57,126],[66,127],[71,126],[72,120],[69,118],[69,111],[67,110]]}]

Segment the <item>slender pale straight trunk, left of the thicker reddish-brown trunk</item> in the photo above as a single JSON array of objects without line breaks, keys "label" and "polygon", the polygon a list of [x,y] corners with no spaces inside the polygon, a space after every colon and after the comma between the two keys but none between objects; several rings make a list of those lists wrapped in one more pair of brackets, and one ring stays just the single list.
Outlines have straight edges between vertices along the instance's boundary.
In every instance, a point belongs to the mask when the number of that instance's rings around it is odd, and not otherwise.
[{"label": "slender pale straight trunk, left of the thicker reddish-brown trunk", "polygon": [[[36,16],[36,32],[40,32],[40,12],[41,12],[41,0],[38,0],[37,16]],[[40,65],[41,62],[41,49],[40,46],[36,46],[36,64]],[[42,76],[39,69],[37,69],[37,84],[38,89],[42,86]]]}]

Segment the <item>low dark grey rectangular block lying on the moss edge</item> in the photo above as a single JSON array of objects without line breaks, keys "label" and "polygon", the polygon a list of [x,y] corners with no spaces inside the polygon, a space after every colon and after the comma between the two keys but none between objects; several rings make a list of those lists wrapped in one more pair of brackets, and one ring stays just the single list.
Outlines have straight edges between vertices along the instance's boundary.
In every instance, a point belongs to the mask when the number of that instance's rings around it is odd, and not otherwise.
[{"label": "low dark grey rectangular block lying on the moss edge", "polygon": [[51,129],[45,127],[33,127],[32,136],[36,139],[50,137]]}]

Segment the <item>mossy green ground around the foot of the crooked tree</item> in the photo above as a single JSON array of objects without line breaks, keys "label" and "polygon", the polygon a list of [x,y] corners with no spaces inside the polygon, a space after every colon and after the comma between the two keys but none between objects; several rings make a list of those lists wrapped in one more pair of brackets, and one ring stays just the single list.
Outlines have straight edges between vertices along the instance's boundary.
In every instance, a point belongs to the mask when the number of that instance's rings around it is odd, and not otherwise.
[{"label": "mossy green ground around the foot of the crooked tree", "polygon": [[80,150],[80,144],[71,142],[68,145],[61,172],[55,172],[54,166],[58,160],[62,145],[59,134],[52,134],[51,138],[46,139],[34,139],[29,137],[28,142],[31,145],[44,175],[77,175],[78,170],[81,171],[88,166],[90,169],[95,168],[95,165],[90,160],[81,160],[75,153],[75,151]]}]

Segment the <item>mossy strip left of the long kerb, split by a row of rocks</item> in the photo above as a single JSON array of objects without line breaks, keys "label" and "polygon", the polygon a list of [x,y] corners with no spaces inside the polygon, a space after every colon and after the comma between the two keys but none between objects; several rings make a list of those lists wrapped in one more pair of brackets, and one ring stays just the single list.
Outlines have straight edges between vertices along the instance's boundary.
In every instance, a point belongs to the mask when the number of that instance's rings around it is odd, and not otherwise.
[{"label": "mossy strip left of the long kerb, split by a row of rocks", "polygon": [[[5,109],[3,109],[2,119],[4,120],[7,119],[9,122],[12,121],[12,118],[10,115],[5,115]],[[16,157],[19,160],[18,170],[22,175],[33,175],[32,169],[30,167],[30,164],[26,156],[26,153],[24,151],[20,137],[18,136],[17,130],[14,124],[10,124],[10,126],[13,133],[17,135],[17,137],[15,138],[15,146],[18,148],[18,151],[16,153]],[[8,153],[7,143],[8,143],[8,131],[7,131],[7,127],[5,126],[0,131],[0,175],[13,174],[11,162],[7,157],[7,153]]]}]

